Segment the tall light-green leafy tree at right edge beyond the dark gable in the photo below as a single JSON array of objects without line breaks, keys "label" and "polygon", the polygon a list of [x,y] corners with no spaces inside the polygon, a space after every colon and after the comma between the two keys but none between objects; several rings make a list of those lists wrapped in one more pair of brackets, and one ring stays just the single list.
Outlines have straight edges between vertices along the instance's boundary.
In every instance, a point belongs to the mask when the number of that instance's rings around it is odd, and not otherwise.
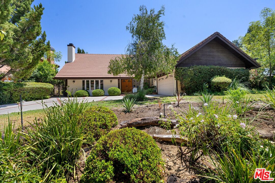
[{"label": "tall light-green leafy tree at right edge beyond the dark gable", "polygon": [[262,65],[262,72],[271,76],[275,67],[275,12],[264,8],[260,20],[250,22],[248,32],[242,39],[242,49]]}]

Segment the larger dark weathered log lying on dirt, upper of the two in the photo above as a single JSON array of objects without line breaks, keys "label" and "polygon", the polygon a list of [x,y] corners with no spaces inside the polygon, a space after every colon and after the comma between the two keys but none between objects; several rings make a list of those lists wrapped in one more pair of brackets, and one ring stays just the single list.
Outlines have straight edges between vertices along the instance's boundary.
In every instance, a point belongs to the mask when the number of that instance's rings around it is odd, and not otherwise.
[{"label": "larger dark weathered log lying on dirt, upper of the two", "polygon": [[[160,125],[159,122],[167,122],[168,120],[165,118],[159,118],[159,117],[143,117],[143,118],[135,118],[127,121],[123,121],[120,123],[120,128],[126,128],[126,127],[137,127],[137,126],[158,126]],[[175,119],[171,119],[171,128],[173,128],[178,122]]]}]

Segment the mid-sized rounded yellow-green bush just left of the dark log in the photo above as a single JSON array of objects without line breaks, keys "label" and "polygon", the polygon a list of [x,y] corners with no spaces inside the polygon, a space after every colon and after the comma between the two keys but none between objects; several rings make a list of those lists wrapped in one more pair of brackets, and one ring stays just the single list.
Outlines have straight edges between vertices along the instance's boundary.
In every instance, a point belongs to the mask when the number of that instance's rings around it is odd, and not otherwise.
[{"label": "mid-sized rounded yellow-green bush just left of the dark log", "polygon": [[117,116],[109,108],[93,106],[82,113],[84,138],[87,143],[94,143],[117,125]]}]

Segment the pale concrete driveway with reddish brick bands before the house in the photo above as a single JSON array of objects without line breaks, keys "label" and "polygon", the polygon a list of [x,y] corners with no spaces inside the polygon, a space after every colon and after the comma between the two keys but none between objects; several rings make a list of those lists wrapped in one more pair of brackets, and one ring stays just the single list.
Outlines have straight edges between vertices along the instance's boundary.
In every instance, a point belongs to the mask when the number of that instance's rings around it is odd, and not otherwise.
[{"label": "pale concrete driveway with reddish brick bands before the house", "polygon": [[[77,100],[79,102],[83,100],[87,100],[87,102],[94,101],[106,101],[106,100],[119,100],[122,99],[123,96],[103,96],[103,97],[78,97]],[[61,100],[67,100],[67,97],[51,97],[49,99],[43,100],[47,106],[53,106],[54,103],[60,104]],[[42,100],[35,100],[23,103],[23,111],[35,110],[35,109],[43,109]],[[8,114],[12,112],[20,112],[20,104],[6,104],[0,105],[0,114]]]}]

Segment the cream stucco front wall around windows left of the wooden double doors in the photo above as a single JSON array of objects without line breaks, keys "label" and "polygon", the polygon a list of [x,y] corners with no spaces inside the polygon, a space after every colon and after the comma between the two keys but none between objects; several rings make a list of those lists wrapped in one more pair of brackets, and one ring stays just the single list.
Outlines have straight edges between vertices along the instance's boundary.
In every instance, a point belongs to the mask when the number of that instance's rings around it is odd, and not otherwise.
[{"label": "cream stucco front wall around windows left of the wooden double doors", "polygon": [[[100,79],[98,79],[100,80]],[[102,79],[101,79],[102,80]],[[112,80],[112,83],[111,83]],[[75,81],[75,83],[73,83]],[[118,80],[117,79],[103,79],[103,90],[105,92],[105,95],[108,95],[108,89],[111,87],[118,87]],[[72,94],[74,94],[78,90],[82,90],[82,80],[68,80],[68,88],[69,91],[73,91]],[[93,90],[88,90],[90,95],[92,95]]]}]

